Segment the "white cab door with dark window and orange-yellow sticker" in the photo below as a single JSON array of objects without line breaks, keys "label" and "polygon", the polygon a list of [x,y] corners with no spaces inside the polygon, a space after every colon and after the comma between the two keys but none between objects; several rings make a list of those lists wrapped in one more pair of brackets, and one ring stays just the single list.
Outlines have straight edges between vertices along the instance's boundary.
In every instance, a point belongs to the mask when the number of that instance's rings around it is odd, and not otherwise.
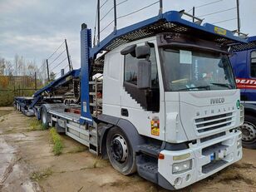
[{"label": "white cab door with dark window and orange-yellow sticker", "polygon": [[[130,121],[140,135],[165,140],[165,102],[160,59],[156,42],[146,42],[150,46],[151,88],[137,87],[138,61],[135,54],[123,56],[121,118]],[[145,42],[135,46],[145,45]],[[125,48],[125,47],[124,47]]]}]

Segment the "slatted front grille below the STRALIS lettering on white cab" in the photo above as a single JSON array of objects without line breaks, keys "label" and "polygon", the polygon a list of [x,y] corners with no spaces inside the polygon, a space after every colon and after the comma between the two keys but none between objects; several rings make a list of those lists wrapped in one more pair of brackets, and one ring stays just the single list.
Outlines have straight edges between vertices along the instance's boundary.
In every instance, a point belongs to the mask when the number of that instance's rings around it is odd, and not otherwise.
[{"label": "slatted front grille below the STRALIS lettering on white cab", "polygon": [[199,133],[203,133],[209,130],[215,130],[223,128],[225,126],[230,126],[234,121],[233,113],[225,113],[218,116],[207,116],[195,120],[196,130]]}]

